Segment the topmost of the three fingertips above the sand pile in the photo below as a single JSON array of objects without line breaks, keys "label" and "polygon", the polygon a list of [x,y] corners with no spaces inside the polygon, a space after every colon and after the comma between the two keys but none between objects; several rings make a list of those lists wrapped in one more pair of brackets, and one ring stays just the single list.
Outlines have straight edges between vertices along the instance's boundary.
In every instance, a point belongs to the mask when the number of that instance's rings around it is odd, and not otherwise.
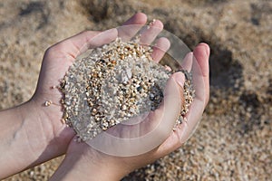
[{"label": "topmost of the three fingertips above the sand pile", "polygon": [[121,37],[121,40],[124,42],[131,40],[131,38],[141,30],[142,25],[146,24],[146,21],[146,14],[134,14],[128,21],[122,24],[122,26],[118,27],[118,36]]}]

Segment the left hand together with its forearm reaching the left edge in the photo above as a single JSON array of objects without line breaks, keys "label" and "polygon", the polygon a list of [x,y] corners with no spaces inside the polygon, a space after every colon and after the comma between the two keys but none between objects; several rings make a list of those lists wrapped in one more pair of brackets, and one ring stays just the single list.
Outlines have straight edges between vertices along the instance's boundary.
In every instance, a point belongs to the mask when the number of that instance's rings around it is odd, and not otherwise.
[{"label": "left hand together with its forearm reaching the left edge", "polygon": [[[135,14],[125,24],[145,22],[144,14]],[[112,42],[116,36],[114,29],[87,31],[56,43],[44,53],[33,98],[0,112],[0,179],[66,153],[75,134],[62,122],[62,93],[54,87],[60,84],[75,57],[92,46]],[[46,107],[45,101],[52,104]]]}]

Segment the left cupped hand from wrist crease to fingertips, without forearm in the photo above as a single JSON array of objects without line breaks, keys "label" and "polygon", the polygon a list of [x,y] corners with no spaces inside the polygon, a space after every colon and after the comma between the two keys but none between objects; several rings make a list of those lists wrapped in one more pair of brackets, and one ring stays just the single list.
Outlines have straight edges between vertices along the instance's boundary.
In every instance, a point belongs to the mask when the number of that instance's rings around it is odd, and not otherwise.
[{"label": "left cupped hand from wrist crease to fingertips, without forearm", "polygon": [[[145,24],[144,14],[135,14],[124,24]],[[135,29],[135,32],[138,30]],[[131,31],[133,33],[133,31]],[[31,112],[41,121],[40,133],[46,148],[44,153],[30,167],[66,153],[75,133],[63,124],[63,95],[58,89],[65,72],[76,57],[89,48],[111,43],[118,35],[116,29],[104,32],[85,31],[56,43],[46,50],[39,81],[33,98],[29,101]],[[41,140],[42,141],[42,140]]]}]

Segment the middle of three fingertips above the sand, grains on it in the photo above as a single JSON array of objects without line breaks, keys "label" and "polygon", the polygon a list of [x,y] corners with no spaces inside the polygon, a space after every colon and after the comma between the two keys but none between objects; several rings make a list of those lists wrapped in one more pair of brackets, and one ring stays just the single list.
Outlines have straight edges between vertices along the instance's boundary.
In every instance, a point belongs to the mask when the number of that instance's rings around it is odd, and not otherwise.
[{"label": "middle of three fingertips above the sand, grains on it", "polygon": [[158,34],[163,30],[163,24],[160,20],[155,20],[154,23],[151,23],[149,26],[145,26],[141,31],[140,42],[142,44],[150,45]]}]

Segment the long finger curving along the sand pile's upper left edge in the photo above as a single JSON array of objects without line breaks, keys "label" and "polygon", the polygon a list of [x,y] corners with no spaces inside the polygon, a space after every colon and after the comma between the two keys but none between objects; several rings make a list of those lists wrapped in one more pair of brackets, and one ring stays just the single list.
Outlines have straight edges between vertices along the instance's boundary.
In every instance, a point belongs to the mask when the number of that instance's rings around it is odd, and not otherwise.
[{"label": "long finger curving along the sand pile's upper left edge", "polygon": [[53,47],[49,49],[49,52],[52,52],[53,56],[65,55],[69,60],[74,61],[82,52],[105,43],[111,43],[116,37],[116,29],[104,32],[86,31],[53,45]]}]

